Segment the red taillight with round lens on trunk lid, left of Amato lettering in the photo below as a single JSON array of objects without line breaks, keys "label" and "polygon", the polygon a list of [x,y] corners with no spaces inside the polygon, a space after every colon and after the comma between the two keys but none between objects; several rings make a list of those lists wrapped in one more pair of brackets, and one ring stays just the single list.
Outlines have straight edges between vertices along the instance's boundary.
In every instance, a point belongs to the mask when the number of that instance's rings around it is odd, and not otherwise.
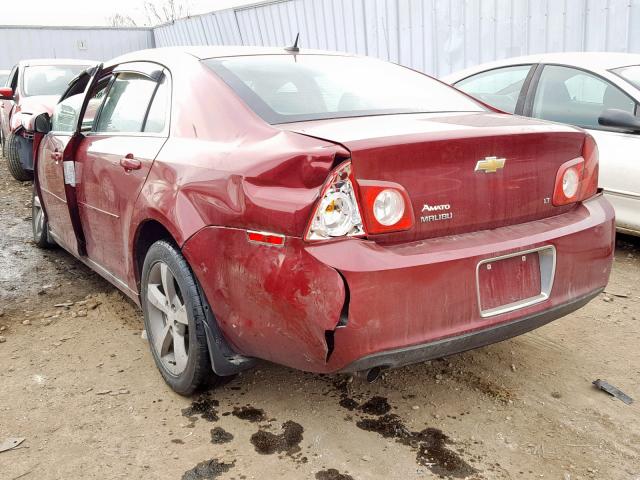
[{"label": "red taillight with round lens on trunk lid, left of Amato lettering", "polygon": [[397,183],[358,180],[367,233],[409,230],[413,226],[413,209],[407,191]]}]

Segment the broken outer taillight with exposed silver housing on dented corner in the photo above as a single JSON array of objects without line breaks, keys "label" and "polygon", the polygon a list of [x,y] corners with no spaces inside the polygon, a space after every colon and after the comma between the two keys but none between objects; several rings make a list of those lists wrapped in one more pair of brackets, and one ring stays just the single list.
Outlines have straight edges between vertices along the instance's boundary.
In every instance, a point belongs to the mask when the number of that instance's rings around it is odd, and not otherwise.
[{"label": "broken outer taillight with exposed silver housing on dented corner", "polygon": [[333,171],[307,228],[306,240],[364,235],[354,185],[351,162],[345,162]]}]

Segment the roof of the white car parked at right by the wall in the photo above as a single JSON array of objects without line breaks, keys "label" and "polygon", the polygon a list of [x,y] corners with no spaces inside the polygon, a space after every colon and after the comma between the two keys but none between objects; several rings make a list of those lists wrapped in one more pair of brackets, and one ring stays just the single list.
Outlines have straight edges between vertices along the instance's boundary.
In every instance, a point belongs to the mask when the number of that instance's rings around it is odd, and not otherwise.
[{"label": "roof of the white car parked at right by the wall", "polygon": [[612,70],[629,65],[640,65],[640,54],[620,52],[558,52],[540,53],[522,57],[512,57],[494,62],[483,63],[471,68],[445,75],[442,80],[447,83],[457,82],[463,78],[485,70],[505,67],[509,65],[524,65],[529,63],[557,63],[594,72]]}]

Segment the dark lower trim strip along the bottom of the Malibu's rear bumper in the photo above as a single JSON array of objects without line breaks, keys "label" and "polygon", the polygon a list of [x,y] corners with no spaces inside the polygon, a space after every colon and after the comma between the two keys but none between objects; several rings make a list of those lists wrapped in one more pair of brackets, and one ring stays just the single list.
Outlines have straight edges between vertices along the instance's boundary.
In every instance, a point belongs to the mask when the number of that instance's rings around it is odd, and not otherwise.
[{"label": "dark lower trim strip along the bottom of the Malibu's rear bumper", "polygon": [[604,289],[600,288],[585,296],[576,298],[564,305],[558,305],[549,310],[535,313],[512,322],[500,323],[491,327],[477,330],[455,337],[447,337],[423,345],[397,348],[374,353],[360,358],[342,369],[343,372],[358,372],[374,367],[397,368],[413,363],[425,362],[434,358],[442,358],[456,353],[466,352],[474,348],[484,347],[492,343],[508,340],[546,325],[553,320],[564,317],[582,308]]}]

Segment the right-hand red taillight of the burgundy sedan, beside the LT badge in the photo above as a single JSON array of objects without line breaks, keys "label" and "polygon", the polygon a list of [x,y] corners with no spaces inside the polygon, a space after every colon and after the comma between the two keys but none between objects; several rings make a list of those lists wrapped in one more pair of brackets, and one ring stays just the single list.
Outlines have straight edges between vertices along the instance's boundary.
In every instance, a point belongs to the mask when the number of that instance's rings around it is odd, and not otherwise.
[{"label": "right-hand red taillight of the burgundy sedan, beside the LT badge", "polygon": [[555,206],[586,200],[598,191],[598,147],[587,135],[582,147],[582,157],[563,163],[556,174],[553,191]]}]

